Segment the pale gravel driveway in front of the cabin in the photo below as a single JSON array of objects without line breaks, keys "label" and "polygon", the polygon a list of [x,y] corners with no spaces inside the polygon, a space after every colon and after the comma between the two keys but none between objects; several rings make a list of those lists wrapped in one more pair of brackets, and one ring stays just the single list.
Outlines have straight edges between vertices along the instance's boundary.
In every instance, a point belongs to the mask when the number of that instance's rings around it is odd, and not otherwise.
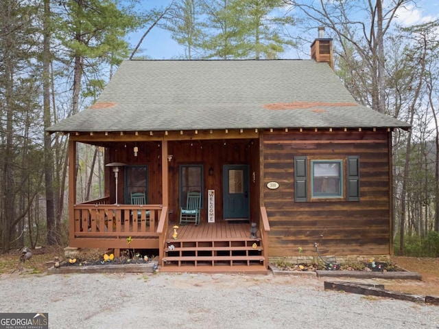
[{"label": "pale gravel driveway in front of the cabin", "polygon": [[315,277],[1,275],[1,313],[49,328],[439,328],[439,306],[324,291]]}]

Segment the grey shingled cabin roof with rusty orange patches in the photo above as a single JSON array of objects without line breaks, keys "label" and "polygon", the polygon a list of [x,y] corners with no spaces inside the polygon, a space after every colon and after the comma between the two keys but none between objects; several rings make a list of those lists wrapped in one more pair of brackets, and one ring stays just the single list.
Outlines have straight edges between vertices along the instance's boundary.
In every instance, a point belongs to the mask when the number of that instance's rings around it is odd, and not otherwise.
[{"label": "grey shingled cabin roof with rusty orange patches", "polygon": [[126,60],[97,103],[49,132],[409,128],[314,60]]}]

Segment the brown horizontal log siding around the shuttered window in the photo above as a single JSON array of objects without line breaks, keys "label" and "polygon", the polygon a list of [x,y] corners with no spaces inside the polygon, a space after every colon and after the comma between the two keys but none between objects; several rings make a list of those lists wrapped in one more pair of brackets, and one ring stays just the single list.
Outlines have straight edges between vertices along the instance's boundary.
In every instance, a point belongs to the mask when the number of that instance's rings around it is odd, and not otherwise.
[{"label": "brown horizontal log siding around the shuttered window", "polygon": [[[377,131],[318,131],[263,135],[263,202],[270,219],[269,256],[390,253],[389,135]],[[359,156],[360,201],[294,202],[294,157]],[[266,184],[276,181],[276,190]]]}]

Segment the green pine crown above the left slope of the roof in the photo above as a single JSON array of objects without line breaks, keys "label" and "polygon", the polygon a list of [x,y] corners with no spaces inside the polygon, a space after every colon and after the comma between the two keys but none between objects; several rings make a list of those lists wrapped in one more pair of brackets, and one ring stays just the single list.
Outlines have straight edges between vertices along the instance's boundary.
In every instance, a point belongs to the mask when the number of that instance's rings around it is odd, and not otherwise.
[{"label": "green pine crown above the left slope of the roof", "polygon": [[[54,7],[52,38],[59,43],[58,65],[67,65],[73,71],[73,105],[80,104],[75,95],[95,99],[113,67],[128,58],[129,45],[125,37],[139,27],[143,20],[130,8],[118,5],[115,0],[63,1]],[[108,73],[108,76],[105,76]],[[72,114],[80,109],[73,108]]]}]

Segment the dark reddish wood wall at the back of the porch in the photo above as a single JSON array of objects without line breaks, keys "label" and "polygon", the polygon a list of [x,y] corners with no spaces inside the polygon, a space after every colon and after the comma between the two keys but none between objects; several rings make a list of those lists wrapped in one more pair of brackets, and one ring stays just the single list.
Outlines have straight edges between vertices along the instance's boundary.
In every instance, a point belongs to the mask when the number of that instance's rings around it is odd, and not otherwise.
[{"label": "dark reddish wood wall at the back of the porch", "polygon": [[[257,135],[257,134],[253,134]],[[133,148],[137,146],[139,153],[134,157]],[[161,204],[163,199],[163,163],[162,141],[126,141],[112,144],[108,148],[108,162],[122,162],[128,166],[147,166],[148,168],[148,203]],[[179,168],[180,165],[200,164],[204,169],[204,204],[201,220],[207,220],[207,190],[215,190],[215,220],[222,220],[222,167],[226,164],[246,164],[250,174],[250,219],[259,220],[259,142],[258,139],[208,139],[208,140],[178,140],[167,141],[167,154],[172,155],[168,165],[168,197],[169,219],[177,222],[179,218]],[[213,175],[209,175],[209,168]],[[124,168],[119,172],[118,199],[123,200],[125,190]],[[106,186],[111,202],[115,202],[115,179],[111,168],[106,168]]]}]

